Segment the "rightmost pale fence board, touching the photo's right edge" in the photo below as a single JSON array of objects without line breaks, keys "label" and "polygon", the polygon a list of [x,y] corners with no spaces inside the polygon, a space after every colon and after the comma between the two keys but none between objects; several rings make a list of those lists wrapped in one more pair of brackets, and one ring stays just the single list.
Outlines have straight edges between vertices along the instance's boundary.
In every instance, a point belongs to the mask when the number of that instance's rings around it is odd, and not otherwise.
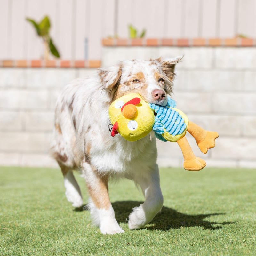
[{"label": "rightmost pale fence board, touching the photo's right edge", "polygon": [[237,33],[247,37],[256,35],[256,1],[239,0]]}]

